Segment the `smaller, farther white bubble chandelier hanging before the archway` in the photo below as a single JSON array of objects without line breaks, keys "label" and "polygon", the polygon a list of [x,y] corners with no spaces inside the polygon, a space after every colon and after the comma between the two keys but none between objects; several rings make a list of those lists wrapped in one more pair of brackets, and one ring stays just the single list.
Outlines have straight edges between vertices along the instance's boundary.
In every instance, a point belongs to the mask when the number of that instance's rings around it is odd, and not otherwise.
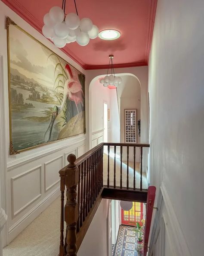
[{"label": "smaller, farther white bubble chandelier hanging before the archway", "polygon": [[114,67],[113,67],[113,57],[114,56],[112,54],[109,55],[110,61],[108,64],[108,70],[111,65],[111,74],[108,75],[108,71],[107,71],[107,75],[100,80],[100,83],[102,83],[104,87],[107,87],[108,85],[114,85],[115,87],[117,87],[119,84],[122,83],[122,78],[115,76]]}]

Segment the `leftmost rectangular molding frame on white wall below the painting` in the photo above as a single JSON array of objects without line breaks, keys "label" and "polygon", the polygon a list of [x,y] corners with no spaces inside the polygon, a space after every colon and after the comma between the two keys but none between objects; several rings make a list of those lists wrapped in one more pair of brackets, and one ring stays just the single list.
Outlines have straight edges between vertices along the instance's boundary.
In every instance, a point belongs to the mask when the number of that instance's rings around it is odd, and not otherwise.
[{"label": "leftmost rectangular molding frame on white wall below the painting", "polygon": [[[39,186],[39,194],[34,196],[33,198],[30,199],[30,201],[28,201],[25,205],[23,205],[21,208],[19,208],[17,211],[15,211],[15,200],[14,200],[14,192],[15,192],[15,180],[17,179],[21,179],[22,177],[29,175],[30,173],[33,173],[34,171],[39,170],[39,180],[40,180],[40,186]],[[27,208],[29,205],[31,205],[34,201],[36,201],[38,198],[40,198],[40,196],[42,195],[42,180],[41,180],[41,175],[42,173],[42,166],[36,166],[24,173],[21,173],[15,177],[11,178],[11,208],[12,208],[12,218],[15,218],[15,216],[17,214],[19,214],[20,212],[22,212],[25,208]],[[23,193],[23,192],[22,192]],[[24,193],[26,193],[26,190],[24,190]]]}]

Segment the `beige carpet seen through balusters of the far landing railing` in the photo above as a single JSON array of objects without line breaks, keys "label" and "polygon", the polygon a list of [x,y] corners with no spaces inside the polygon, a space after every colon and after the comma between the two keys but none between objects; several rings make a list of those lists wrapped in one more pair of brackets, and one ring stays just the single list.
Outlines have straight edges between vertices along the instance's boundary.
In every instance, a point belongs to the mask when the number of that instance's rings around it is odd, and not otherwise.
[{"label": "beige carpet seen through balusters of the far landing railing", "polygon": [[[135,179],[136,179],[136,188],[140,188],[140,170],[139,170],[140,163],[136,163],[136,172],[135,172]],[[133,188],[133,178],[134,178],[134,163],[129,162],[129,188]],[[103,155],[103,184],[107,185],[107,178],[108,178],[108,156],[107,154]],[[120,179],[121,179],[121,160],[120,158],[116,158],[116,186],[120,186]],[[110,173],[109,173],[109,185],[114,185],[114,156],[111,154],[110,156]],[[124,188],[127,187],[127,162],[123,161],[122,163],[122,186]],[[147,178],[146,173],[142,173],[142,189],[147,189]]]}]

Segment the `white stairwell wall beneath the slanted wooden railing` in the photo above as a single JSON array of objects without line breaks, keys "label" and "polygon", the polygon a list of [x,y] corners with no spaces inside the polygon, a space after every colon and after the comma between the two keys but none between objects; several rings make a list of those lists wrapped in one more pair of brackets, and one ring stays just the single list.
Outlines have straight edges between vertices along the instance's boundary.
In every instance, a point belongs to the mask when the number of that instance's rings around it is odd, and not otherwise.
[{"label": "white stairwell wall beneath the slanted wooden railing", "polygon": [[83,238],[77,256],[108,255],[108,199],[102,199]]}]

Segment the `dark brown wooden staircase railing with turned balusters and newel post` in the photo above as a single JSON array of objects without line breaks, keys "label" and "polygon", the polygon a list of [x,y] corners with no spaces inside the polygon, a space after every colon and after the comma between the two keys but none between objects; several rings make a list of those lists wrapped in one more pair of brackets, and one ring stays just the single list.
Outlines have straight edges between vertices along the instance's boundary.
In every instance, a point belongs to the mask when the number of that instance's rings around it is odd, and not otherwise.
[{"label": "dark brown wooden staircase railing with turned balusters and newel post", "polygon": [[[104,146],[108,146],[107,152],[107,173],[104,170]],[[120,157],[116,157],[120,148]],[[126,155],[126,185],[123,182],[123,154],[124,147]],[[129,149],[133,148],[133,187],[129,185]],[[140,148],[140,190],[142,190],[142,148],[149,147],[149,144],[120,144],[101,143],[81,157],[74,154],[68,155],[68,166],[59,171],[61,177],[61,221],[60,221],[60,247],[59,256],[76,256],[77,246],[85,236],[92,221],[104,187],[136,190],[136,148]],[[113,148],[113,180],[110,179],[111,161],[110,152]],[[117,161],[117,162],[116,162]],[[120,166],[120,173],[117,173]],[[107,185],[104,185],[103,178],[107,174]],[[117,175],[120,175],[120,185],[117,184]],[[66,187],[66,204],[64,207],[64,192]],[[66,222],[65,243],[64,243],[64,221]]]}]

